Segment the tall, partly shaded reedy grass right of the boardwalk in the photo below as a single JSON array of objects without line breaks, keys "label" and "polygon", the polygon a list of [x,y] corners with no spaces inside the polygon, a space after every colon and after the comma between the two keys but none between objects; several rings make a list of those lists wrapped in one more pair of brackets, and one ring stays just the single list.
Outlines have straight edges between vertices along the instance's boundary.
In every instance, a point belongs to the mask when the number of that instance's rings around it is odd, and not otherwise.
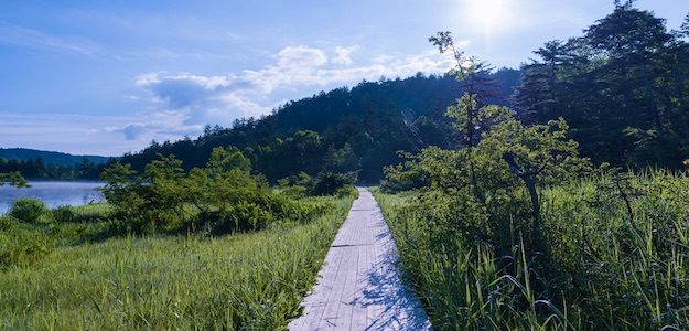
[{"label": "tall, partly shaded reedy grass right of the boardwalk", "polygon": [[[600,174],[545,189],[536,253],[514,226],[525,222],[503,220],[507,235],[475,238],[446,226],[461,215],[441,197],[375,194],[435,329],[689,329],[683,174]],[[498,246],[510,248],[498,255]]]}]

